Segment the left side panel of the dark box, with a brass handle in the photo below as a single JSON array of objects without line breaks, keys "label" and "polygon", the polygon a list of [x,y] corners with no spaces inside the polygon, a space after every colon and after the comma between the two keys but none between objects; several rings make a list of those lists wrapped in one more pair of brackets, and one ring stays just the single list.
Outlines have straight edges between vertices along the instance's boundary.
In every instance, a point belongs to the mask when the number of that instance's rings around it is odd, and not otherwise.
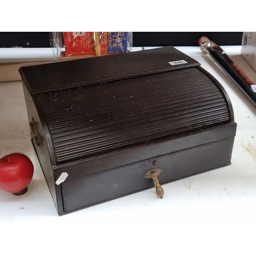
[{"label": "left side panel of the dark box, with a brass handle", "polygon": [[41,121],[38,116],[34,101],[31,97],[31,95],[28,93],[28,90],[26,86],[23,83],[23,89],[24,89],[24,96],[26,101],[26,107],[27,107],[27,113],[28,113],[28,119],[29,122],[32,122],[32,118],[34,119],[34,125],[36,127],[36,133],[40,137],[41,145],[36,145],[34,136],[31,135],[31,141],[34,146],[37,158],[39,160],[39,163],[41,165],[42,171],[45,175],[48,187],[50,189],[54,204],[56,208],[58,209],[58,212],[62,212],[62,201],[61,197],[59,200],[57,200],[56,191],[55,191],[55,184],[54,184],[54,173],[53,173],[53,167],[51,165],[51,159],[49,156],[48,146],[46,142],[46,137],[44,130],[42,129]]}]

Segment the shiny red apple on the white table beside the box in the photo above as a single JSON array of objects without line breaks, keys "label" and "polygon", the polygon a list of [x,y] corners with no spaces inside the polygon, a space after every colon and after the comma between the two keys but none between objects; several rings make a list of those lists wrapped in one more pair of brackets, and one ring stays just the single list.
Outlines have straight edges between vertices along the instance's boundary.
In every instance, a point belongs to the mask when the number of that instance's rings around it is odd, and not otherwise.
[{"label": "shiny red apple on the white table beside the box", "polygon": [[31,160],[19,153],[13,153],[0,159],[0,188],[14,195],[27,192],[34,173]]}]

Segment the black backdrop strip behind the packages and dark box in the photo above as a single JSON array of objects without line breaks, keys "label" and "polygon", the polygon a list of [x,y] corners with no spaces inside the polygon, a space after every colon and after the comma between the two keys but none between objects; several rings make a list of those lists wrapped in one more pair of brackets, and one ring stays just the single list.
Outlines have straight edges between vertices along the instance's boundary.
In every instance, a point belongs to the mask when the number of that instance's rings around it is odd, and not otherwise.
[{"label": "black backdrop strip behind the packages and dark box", "polygon": [[[217,45],[241,45],[243,32],[133,32],[134,47],[198,46],[198,39],[207,36]],[[0,48],[50,47],[49,32],[0,32]]]}]

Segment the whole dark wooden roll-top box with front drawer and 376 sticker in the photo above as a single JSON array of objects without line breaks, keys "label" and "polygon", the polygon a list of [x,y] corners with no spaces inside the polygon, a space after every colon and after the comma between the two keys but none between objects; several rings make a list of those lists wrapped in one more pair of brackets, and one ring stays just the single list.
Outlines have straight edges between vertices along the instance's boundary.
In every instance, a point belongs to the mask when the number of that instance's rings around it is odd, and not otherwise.
[{"label": "whole dark wooden roll-top box with front drawer and 376 sticker", "polygon": [[152,188],[148,171],[161,170],[164,184],[230,164],[237,127],[230,100],[173,47],[19,72],[59,215]]}]

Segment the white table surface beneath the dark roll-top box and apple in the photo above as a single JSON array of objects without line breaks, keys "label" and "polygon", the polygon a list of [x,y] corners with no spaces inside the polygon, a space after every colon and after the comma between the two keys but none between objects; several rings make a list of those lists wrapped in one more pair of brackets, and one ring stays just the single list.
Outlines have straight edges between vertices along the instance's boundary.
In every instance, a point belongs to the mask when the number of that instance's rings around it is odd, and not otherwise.
[{"label": "white table surface beneath the dark roll-top box and apple", "polygon": [[[0,189],[0,255],[255,255],[256,107],[199,47],[198,60],[228,93],[237,122],[232,164],[58,216],[30,141],[22,82],[0,83],[0,158],[26,154],[34,176],[23,196]],[[256,82],[240,55],[222,47]],[[0,74],[1,75],[1,74]]]}]

